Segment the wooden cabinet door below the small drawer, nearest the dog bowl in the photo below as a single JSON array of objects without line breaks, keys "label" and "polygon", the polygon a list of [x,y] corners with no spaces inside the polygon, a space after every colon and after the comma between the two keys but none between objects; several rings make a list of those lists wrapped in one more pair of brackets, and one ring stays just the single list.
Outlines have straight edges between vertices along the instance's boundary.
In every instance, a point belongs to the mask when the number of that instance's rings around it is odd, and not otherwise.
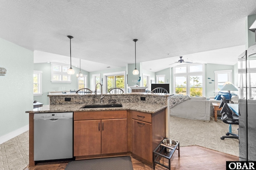
[{"label": "wooden cabinet door below the small drawer, nearest the dog bowl", "polygon": [[152,124],[132,119],[132,153],[152,162]]}]

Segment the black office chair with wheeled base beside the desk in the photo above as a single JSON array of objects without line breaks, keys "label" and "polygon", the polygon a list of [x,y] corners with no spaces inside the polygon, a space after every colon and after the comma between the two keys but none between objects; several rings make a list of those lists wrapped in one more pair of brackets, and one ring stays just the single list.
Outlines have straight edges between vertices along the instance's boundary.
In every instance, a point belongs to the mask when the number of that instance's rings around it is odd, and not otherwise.
[{"label": "black office chair with wheeled base beside the desk", "polygon": [[[233,114],[233,111],[230,109],[230,107],[228,106],[227,103],[225,103],[225,97],[222,97],[222,102],[224,103],[222,106],[222,109],[220,111],[220,113],[222,113],[221,115],[221,119],[224,123],[231,125],[239,125],[239,116],[236,114]],[[239,129],[238,129],[239,131]],[[230,136],[232,135],[232,136]],[[234,139],[239,139],[238,135],[232,133],[232,130],[228,133],[226,133],[226,136],[222,136],[220,137],[220,139],[224,140],[225,138],[234,138]]]}]

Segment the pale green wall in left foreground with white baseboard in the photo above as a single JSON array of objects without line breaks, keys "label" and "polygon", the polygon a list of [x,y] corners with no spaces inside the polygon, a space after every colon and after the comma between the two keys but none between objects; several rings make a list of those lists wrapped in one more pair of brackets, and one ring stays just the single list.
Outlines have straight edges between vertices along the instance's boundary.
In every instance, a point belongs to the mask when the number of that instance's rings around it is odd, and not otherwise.
[{"label": "pale green wall in left foreground with white baseboard", "polygon": [[[0,38],[0,137],[28,127],[33,109],[33,51]],[[28,130],[28,129],[26,129]]]}]

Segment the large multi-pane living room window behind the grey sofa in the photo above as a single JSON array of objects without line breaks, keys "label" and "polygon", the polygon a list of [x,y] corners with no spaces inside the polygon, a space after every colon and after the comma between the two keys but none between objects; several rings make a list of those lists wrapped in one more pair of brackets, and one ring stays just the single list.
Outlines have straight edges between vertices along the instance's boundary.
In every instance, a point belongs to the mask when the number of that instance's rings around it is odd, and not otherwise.
[{"label": "large multi-pane living room window behind the grey sofa", "polygon": [[203,82],[204,64],[187,64],[174,67],[175,94],[204,96]]}]

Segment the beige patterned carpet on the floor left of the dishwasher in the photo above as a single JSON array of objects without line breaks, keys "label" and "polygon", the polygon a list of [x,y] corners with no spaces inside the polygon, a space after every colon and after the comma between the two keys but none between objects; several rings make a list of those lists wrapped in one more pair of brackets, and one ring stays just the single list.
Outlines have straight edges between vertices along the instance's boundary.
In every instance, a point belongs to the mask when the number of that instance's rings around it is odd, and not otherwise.
[{"label": "beige patterned carpet on the floor left of the dishwasher", "polygon": [[28,131],[0,145],[0,170],[24,170],[28,166]]}]

